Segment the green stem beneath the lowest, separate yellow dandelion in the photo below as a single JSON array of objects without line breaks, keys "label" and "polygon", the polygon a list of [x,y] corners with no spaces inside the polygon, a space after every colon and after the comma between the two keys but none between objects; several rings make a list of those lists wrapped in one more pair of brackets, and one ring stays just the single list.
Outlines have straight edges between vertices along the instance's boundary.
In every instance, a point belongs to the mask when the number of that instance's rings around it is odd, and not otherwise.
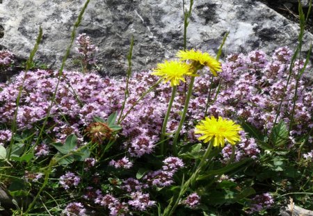
[{"label": "green stem beneath the lowest, separate yellow dandelion", "polygon": [[210,154],[211,149],[213,147],[213,143],[214,143],[214,139],[212,139],[209,142],[207,150],[205,151],[204,156],[202,157],[202,159],[201,159],[197,169],[195,170],[195,172],[193,172],[192,176],[182,186],[182,189],[180,190],[178,197],[175,200],[174,205],[173,205],[174,197],[172,197],[172,199],[170,199],[170,203],[168,204],[168,206],[164,210],[163,216],[172,215],[172,213],[174,213],[175,209],[177,208],[177,206],[179,204],[181,197],[186,193],[186,191],[189,189],[190,185],[193,185],[195,183],[195,181],[197,181],[197,178],[198,178],[200,172],[202,171],[202,168],[207,163],[207,158],[209,157],[209,154]]}]

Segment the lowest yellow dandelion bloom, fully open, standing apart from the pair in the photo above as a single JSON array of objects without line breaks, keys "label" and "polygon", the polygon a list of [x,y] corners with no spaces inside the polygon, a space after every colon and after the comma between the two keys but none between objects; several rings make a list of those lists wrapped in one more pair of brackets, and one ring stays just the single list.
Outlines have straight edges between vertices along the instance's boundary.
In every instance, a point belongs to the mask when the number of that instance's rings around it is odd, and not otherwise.
[{"label": "lowest yellow dandelion bloom, fully open, standing apart from the pair", "polygon": [[197,126],[195,133],[201,133],[202,136],[198,140],[203,140],[204,143],[214,139],[214,147],[224,147],[225,140],[234,145],[240,140],[239,131],[242,128],[239,124],[235,124],[232,120],[222,119],[222,117],[206,117]]}]

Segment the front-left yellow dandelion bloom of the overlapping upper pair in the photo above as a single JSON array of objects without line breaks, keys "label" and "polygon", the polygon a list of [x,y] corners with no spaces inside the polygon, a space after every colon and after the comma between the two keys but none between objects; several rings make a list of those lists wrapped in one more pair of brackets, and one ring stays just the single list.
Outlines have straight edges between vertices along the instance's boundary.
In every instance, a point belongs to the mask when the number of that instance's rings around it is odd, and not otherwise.
[{"label": "front-left yellow dandelion bloom of the overlapping upper pair", "polygon": [[189,65],[176,60],[170,62],[166,60],[164,63],[159,63],[152,74],[161,76],[164,79],[164,83],[170,81],[172,87],[179,85],[179,81],[186,82],[185,75],[195,76]]}]

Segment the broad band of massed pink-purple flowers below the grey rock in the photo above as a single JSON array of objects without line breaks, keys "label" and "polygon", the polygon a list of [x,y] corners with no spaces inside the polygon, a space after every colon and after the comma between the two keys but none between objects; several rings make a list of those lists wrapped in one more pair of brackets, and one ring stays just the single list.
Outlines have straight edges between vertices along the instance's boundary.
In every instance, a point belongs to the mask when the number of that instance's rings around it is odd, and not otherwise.
[{"label": "broad band of massed pink-purple flowers below the grey rock", "polygon": [[[287,47],[277,49],[271,59],[268,59],[262,51],[253,51],[247,56],[243,54],[227,56],[223,63],[223,72],[213,79],[212,85],[215,87],[218,82],[221,82],[221,88],[217,95],[216,88],[211,90],[207,115],[237,116],[259,130],[269,133],[273,127],[280,100],[283,99],[278,122],[282,120],[289,125],[291,100],[296,86],[294,76],[291,76],[286,94],[283,94],[282,90],[287,85],[290,58],[291,51]],[[297,64],[303,67],[302,62]],[[293,70],[297,73],[298,67],[294,67]],[[13,121],[18,94],[17,86],[22,84],[24,73],[19,74],[12,83],[3,85],[3,91],[0,92],[2,104],[0,123],[2,124],[10,125]],[[34,127],[33,124],[38,124],[47,116],[51,92],[54,92],[56,88],[58,72],[37,70],[26,73],[24,91],[17,113],[17,126],[34,129],[38,127]],[[193,128],[204,117],[211,86],[210,80],[209,72],[195,79],[193,96],[181,131],[185,142],[196,141],[197,136]],[[131,77],[124,114],[156,81],[156,76],[146,72],[134,74]],[[111,113],[120,110],[125,97],[125,86],[124,79],[118,81],[114,78],[101,78],[93,72],[88,74],[63,72],[56,94],[56,103],[52,106],[50,113],[49,126],[53,127],[45,132],[57,142],[63,142],[67,135],[74,133],[81,142],[83,133],[79,128],[88,126],[95,116],[106,119]],[[172,133],[177,128],[180,119],[179,112],[184,106],[185,93],[184,84],[179,85],[168,121],[167,133]],[[120,135],[124,140],[123,147],[128,151],[129,156],[139,158],[154,151],[155,144],[159,141],[170,94],[170,85],[158,85],[155,90],[139,101],[121,122]],[[299,134],[307,133],[313,126],[311,120],[312,87],[306,85],[305,79],[300,79],[297,95],[291,140]],[[216,101],[214,101],[215,96]],[[259,149],[255,140],[248,136],[247,134],[241,136],[241,144],[236,151],[236,160],[257,157]],[[3,144],[5,142],[3,140]],[[312,143],[312,139],[309,142]],[[225,148],[223,156],[227,160],[230,147]]]}]

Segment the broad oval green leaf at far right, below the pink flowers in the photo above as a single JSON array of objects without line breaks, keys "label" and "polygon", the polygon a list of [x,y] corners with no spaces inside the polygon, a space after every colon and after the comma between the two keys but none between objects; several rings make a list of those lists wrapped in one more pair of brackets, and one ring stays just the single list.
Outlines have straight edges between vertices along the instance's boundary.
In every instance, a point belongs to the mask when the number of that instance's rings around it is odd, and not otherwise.
[{"label": "broad oval green leaf at far right, below the pink flowers", "polygon": [[270,140],[275,147],[280,147],[286,144],[288,140],[287,125],[280,121],[271,131]]}]

